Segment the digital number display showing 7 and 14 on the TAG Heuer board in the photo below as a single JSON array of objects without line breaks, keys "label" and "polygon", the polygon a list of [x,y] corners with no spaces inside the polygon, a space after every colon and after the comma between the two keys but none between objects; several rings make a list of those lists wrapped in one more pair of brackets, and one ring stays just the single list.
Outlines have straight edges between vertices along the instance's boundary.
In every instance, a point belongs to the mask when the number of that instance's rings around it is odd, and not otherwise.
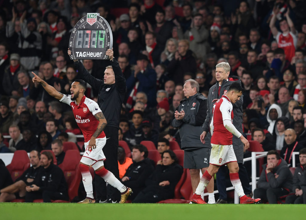
[{"label": "digital number display showing 7 and 14 on the TAG Heuer board", "polygon": [[104,48],[105,30],[78,30],[75,48]]}]

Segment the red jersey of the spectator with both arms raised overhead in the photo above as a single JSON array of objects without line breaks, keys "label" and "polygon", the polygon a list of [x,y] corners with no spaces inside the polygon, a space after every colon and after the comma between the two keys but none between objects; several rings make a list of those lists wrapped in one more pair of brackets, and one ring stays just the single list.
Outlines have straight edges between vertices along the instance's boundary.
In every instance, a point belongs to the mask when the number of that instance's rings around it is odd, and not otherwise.
[{"label": "red jersey of the spectator with both arms raised overhead", "polygon": [[278,32],[276,36],[278,47],[285,51],[286,60],[291,62],[292,57],[295,56],[295,47],[297,46],[297,36],[289,32],[287,35]]}]

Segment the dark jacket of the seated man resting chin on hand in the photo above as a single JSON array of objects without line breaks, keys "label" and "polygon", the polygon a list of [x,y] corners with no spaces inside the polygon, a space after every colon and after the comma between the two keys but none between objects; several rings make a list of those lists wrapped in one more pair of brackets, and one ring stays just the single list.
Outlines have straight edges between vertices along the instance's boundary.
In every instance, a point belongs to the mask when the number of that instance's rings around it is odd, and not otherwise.
[{"label": "dark jacket of the seated man resting chin on hand", "polygon": [[[284,188],[291,192],[293,184],[292,173],[284,159],[280,158],[278,164],[270,173],[267,173],[266,168],[267,164],[263,164],[263,171],[257,182],[258,188]],[[278,175],[277,178],[275,178],[276,175]]]}]

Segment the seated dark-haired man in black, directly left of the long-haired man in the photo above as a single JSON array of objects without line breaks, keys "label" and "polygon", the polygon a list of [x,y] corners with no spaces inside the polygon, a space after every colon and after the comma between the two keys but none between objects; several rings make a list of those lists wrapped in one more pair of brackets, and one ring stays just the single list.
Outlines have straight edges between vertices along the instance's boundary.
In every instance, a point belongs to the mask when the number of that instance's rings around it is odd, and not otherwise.
[{"label": "seated dark-haired man in black, directly left of the long-haired man", "polygon": [[129,199],[133,200],[138,193],[144,189],[147,178],[154,171],[154,166],[148,157],[147,148],[142,145],[135,145],[132,149],[133,163],[126,170],[121,182],[133,189]]}]

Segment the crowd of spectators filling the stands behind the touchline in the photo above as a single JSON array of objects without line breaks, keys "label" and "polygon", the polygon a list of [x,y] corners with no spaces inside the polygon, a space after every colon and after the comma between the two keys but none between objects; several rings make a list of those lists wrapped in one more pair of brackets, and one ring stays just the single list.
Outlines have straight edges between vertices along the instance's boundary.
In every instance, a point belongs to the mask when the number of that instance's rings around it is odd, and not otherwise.
[{"label": "crowd of spectators filling the stands behind the touchline", "polygon": [[[207,97],[217,83],[215,66],[224,61],[245,89],[245,137],[265,151],[278,150],[289,164],[291,152],[305,147],[304,1],[14,0],[0,5],[2,153],[51,150],[61,134],[76,142],[74,135],[81,132],[71,109],[33,83],[31,72],[69,94],[78,78],[67,55],[70,34],[80,18],[95,12],[110,24],[114,56],[126,79],[119,140],[131,149],[143,140],[157,148],[159,138],[181,145],[170,122],[184,98],[184,82],[195,79]],[[108,60],[81,61],[103,79]],[[88,85],[86,96],[96,101],[98,91]]]}]

